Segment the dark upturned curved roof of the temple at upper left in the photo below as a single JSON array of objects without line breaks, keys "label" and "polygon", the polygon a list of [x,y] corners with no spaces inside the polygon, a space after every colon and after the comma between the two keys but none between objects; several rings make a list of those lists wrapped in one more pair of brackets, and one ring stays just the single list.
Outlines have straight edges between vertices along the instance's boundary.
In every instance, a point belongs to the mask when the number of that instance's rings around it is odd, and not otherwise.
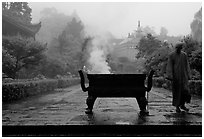
[{"label": "dark upturned curved roof of the temple at upper left", "polygon": [[8,22],[12,24],[13,26],[16,26],[17,28],[24,30],[25,32],[31,34],[31,36],[35,36],[35,34],[41,28],[41,22],[37,24],[28,24],[28,23],[18,21],[15,18],[12,18],[11,16],[3,14],[3,13],[2,13],[2,21]]}]

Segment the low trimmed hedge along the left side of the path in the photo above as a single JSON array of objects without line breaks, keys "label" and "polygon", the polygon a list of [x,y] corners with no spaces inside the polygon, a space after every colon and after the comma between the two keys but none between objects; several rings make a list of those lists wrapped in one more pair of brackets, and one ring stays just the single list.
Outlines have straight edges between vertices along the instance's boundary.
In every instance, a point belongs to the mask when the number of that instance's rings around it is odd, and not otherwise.
[{"label": "low trimmed hedge along the left side of the path", "polygon": [[65,88],[79,83],[79,78],[44,79],[44,80],[17,80],[2,84],[2,101],[10,102],[53,91],[56,88]]}]

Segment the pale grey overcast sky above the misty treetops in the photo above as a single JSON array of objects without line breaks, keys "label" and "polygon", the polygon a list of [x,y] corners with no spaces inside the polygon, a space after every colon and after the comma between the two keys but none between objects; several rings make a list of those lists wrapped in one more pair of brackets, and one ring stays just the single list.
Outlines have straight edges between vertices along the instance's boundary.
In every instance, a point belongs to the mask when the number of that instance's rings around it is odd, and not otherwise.
[{"label": "pale grey overcast sky above the misty treetops", "polygon": [[201,8],[197,2],[29,2],[33,23],[40,21],[40,11],[54,7],[59,13],[71,15],[74,10],[82,22],[93,31],[110,31],[116,37],[126,37],[141,26],[161,27],[168,35],[190,34],[194,14]]}]

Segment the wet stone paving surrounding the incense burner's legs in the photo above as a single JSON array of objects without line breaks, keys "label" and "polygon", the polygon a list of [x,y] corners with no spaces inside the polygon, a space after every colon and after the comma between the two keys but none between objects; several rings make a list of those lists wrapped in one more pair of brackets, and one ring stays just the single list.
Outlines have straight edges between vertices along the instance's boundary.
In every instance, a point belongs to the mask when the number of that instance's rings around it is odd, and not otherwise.
[{"label": "wet stone paving surrounding the incense burner's legs", "polygon": [[72,125],[202,125],[202,99],[193,96],[189,112],[176,113],[171,92],[153,88],[148,94],[148,116],[139,115],[134,98],[97,98],[93,114],[84,113],[87,93],[79,85],[2,105],[3,126]]}]

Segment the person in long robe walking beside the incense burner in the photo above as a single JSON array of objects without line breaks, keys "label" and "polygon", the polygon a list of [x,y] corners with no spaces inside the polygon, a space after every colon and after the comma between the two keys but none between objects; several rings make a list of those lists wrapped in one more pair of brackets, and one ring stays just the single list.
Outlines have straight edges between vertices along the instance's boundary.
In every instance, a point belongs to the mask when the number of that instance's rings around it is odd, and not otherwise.
[{"label": "person in long robe walking beside the incense burner", "polygon": [[176,112],[181,112],[180,108],[188,111],[185,103],[190,103],[188,80],[190,76],[190,66],[187,54],[181,49],[183,43],[177,43],[175,51],[169,55],[167,63],[167,79],[172,81],[172,105],[176,107]]}]

